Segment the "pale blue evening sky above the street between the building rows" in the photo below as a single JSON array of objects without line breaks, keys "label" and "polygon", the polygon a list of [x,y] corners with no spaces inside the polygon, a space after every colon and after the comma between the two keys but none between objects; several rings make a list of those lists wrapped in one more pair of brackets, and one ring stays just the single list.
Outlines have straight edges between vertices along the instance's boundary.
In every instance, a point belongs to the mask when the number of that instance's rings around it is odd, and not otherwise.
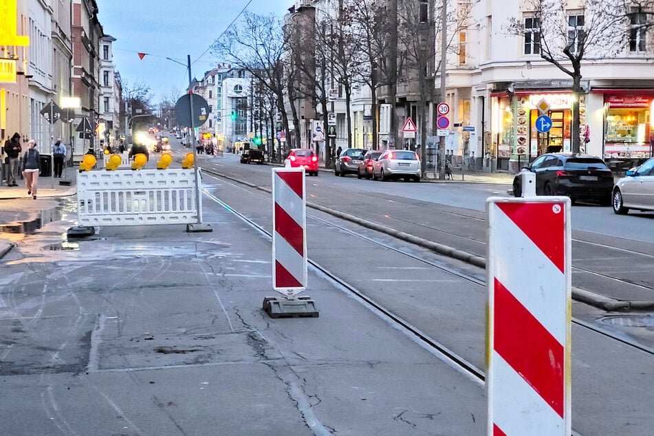
[{"label": "pale blue evening sky above the street between the building rows", "polygon": [[[96,0],[105,34],[113,36],[113,64],[129,86],[150,87],[154,104],[175,101],[188,86],[186,56],[194,78],[219,59],[208,48],[250,2],[249,12],[280,17],[294,0]],[[237,20],[238,23],[238,20]],[[138,53],[146,53],[142,60]],[[168,58],[182,63],[179,65]]]}]

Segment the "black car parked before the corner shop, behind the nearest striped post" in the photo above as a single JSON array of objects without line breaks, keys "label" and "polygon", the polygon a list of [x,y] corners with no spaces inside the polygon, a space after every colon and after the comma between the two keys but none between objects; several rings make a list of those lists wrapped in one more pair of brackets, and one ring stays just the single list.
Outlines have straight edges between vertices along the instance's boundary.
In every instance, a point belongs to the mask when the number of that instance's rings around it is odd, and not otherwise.
[{"label": "black car parked before the corner shop, behind the nearest striped post", "polygon": [[613,173],[601,157],[572,153],[546,153],[523,168],[513,179],[513,195],[522,195],[523,173],[536,174],[536,195],[565,195],[577,200],[611,204]]}]

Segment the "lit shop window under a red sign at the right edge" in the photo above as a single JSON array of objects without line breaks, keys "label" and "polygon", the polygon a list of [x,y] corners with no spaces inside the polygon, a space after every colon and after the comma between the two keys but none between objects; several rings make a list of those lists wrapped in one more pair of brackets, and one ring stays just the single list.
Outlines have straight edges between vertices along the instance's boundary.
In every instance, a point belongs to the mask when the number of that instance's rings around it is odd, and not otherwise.
[{"label": "lit shop window under a red sign at the right edge", "polygon": [[604,158],[651,157],[654,98],[629,94],[604,94],[606,130]]}]

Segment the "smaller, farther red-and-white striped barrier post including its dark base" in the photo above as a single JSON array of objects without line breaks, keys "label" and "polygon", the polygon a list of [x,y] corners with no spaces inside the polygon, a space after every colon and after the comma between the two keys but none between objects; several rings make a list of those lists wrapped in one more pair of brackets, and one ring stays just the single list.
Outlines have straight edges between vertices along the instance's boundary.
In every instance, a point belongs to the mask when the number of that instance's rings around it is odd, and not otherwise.
[{"label": "smaller, farther red-and-white striped barrier post including its dark base", "polygon": [[272,288],[285,298],[266,297],[263,309],[273,318],[318,316],[307,287],[307,201],[304,168],[272,170]]}]

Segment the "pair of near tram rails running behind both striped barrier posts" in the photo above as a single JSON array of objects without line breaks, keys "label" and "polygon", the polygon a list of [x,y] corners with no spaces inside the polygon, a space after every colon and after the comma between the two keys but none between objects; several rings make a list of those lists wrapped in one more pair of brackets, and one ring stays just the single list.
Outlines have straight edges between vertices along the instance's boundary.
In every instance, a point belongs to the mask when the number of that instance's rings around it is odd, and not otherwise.
[{"label": "pair of near tram rails running behind both striped barrier posts", "polygon": [[[236,185],[235,185],[236,186]],[[238,186],[239,188],[246,190],[245,188]],[[261,189],[261,188],[259,188]],[[252,191],[246,190],[250,193]],[[212,195],[209,193],[207,190],[204,190],[204,193],[212,199],[212,201],[215,201],[217,204],[221,205],[223,208],[228,210],[229,212],[232,212],[235,214],[239,219],[241,219],[243,222],[248,224],[248,226],[251,226],[252,228],[256,229],[258,232],[260,232],[262,235],[265,235],[268,239],[272,239],[272,235],[268,230],[265,230],[262,226],[257,224],[256,221],[250,219],[246,215],[243,215],[241,212],[236,210],[234,207],[230,206],[230,204],[227,204],[225,201],[222,201],[218,197],[215,197],[215,195]],[[259,197],[262,197],[268,201],[270,201],[270,197],[266,195],[261,195],[259,193],[252,193],[253,195],[257,195]],[[431,259],[426,259],[426,257],[420,256],[418,254],[408,252],[408,250],[404,250],[402,248],[397,248],[396,246],[393,246],[389,243],[385,243],[384,241],[380,241],[378,238],[373,238],[373,237],[368,237],[366,235],[362,235],[360,232],[357,232],[355,230],[352,230],[351,228],[347,228],[346,226],[342,226],[340,224],[336,224],[334,222],[331,222],[327,219],[323,219],[320,217],[317,217],[316,215],[309,214],[307,213],[307,218],[313,219],[317,221],[318,223],[322,224],[323,226],[331,226],[332,228],[339,230],[341,232],[346,232],[347,234],[351,235],[352,237],[356,237],[358,239],[362,239],[363,241],[367,241],[368,243],[373,243],[376,246],[379,246],[380,248],[383,248],[384,250],[389,250],[392,252],[395,252],[397,254],[401,254],[404,257],[408,257],[410,259],[413,259],[414,261],[419,261],[420,263],[423,263],[424,265],[428,265],[431,268],[435,268],[441,272],[444,272],[446,274],[450,274],[451,276],[455,276],[458,279],[468,281],[469,283],[472,283],[473,285],[477,285],[479,287],[486,288],[486,280],[485,279],[480,279],[479,276],[475,276],[474,274],[471,274],[470,272],[466,272],[464,270],[459,270],[454,267],[450,267],[449,265],[444,265],[442,263],[437,263]],[[461,358],[459,354],[450,349],[449,347],[446,347],[445,345],[442,344],[442,342],[439,342],[435,338],[431,338],[427,334],[425,334],[423,331],[418,329],[417,327],[413,326],[408,320],[405,320],[401,318],[400,316],[397,316],[397,314],[393,313],[393,311],[387,307],[384,307],[380,303],[377,303],[376,301],[373,300],[370,296],[365,294],[364,292],[361,292],[358,290],[355,286],[351,285],[348,283],[347,280],[344,278],[338,276],[338,274],[331,272],[327,270],[327,268],[323,267],[323,265],[320,265],[318,262],[314,261],[313,259],[308,259],[308,262],[310,265],[312,265],[312,268],[314,270],[328,278],[331,282],[334,284],[338,285],[338,287],[341,290],[347,291],[351,296],[356,297],[359,301],[362,301],[364,304],[369,306],[371,309],[373,309],[375,312],[378,314],[382,314],[386,319],[390,320],[392,323],[396,325],[396,327],[401,328],[403,331],[405,331],[406,334],[411,336],[413,340],[418,342],[422,347],[430,350],[435,356],[439,356],[450,364],[450,366],[453,366],[457,371],[460,373],[466,375],[470,380],[473,380],[477,382],[478,384],[483,384],[483,380],[485,380],[485,376],[483,373],[482,369],[479,369],[476,367],[474,364],[468,362],[468,360]],[[611,338],[611,340],[615,340],[616,342],[620,342],[623,345],[626,345],[628,347],[631,347],[633,349],[640,350],[644,353],[647,353],[648,355],[654,356],[654,349],[651,349],[650,347],[646,347],[645,345],[642,345],[638,342],[635,342],[634,340],[631,340],[629,338],[626,338],[624,336],[620,336],[617,334],[614,334],[612,331],[609,329],[603,329],[602,327],[598,327],[596,325],[592,325],[590,323],[587,323],[584,320],[580,320],[578,318],[573,317],[572,318],[572,323],[574,325],[578,325],[579,327],[582,327],[584,329],[587,329],[589,331],[593,331],[596,334],[600,334],[602,336],[605,336],[607,338]]]}]

